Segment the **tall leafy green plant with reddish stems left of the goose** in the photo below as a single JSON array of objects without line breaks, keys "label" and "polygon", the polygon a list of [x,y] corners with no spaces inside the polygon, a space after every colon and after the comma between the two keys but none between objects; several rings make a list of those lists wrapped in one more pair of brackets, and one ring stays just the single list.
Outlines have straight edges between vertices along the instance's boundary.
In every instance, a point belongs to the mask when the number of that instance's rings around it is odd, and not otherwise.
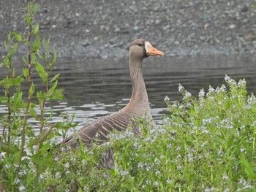
[{"label": "tall leafy green plant with reddish stems left of the goose", "polygon": [[[23,34],[12,32],[8,35],[4,47],[7,55],[0,66],[7,69],[7,76],[0,80],[4,96],[0,103],[7,107],[5,115],[0,118],[1,128],[1,181],[6,184],[5,190],[16,191],[19,186],[29,186],[26,174],[18,174],[29,164],[34,164],[35,172],[43,172],[48,166],[55,166],[50,138],[61,135],[67,128],[75,127],[72,119],[68,122],[48,123],[53,117],[45,115],[45,104],[51,100],[64,98],[63,90],[57,88],[59,74],[52,77],[56,64],[56,50],[50,53],[50,39],[40,39],[39,23],[34,23],[37,4],[29,3],[25,16],[27,28]],[[41,45],[43,50],[41,50]],[[19,46],[27,49],[24,55],[22,74],[17,75],[13,55]],[[38,91],[34,83],[36,74],[42,80],[42,90]],[[32,75],[33,73],[33,75]],[[25,91],[21,87],[26,85]],[[39,112],[38,112],[39,109]],[[28,118],[37,123],[30,123]],[[39,128],[36,128],[39,125]],[[39,131],[37,131],[39,130]],[[39,132],[39,133],[38,133]]]}]

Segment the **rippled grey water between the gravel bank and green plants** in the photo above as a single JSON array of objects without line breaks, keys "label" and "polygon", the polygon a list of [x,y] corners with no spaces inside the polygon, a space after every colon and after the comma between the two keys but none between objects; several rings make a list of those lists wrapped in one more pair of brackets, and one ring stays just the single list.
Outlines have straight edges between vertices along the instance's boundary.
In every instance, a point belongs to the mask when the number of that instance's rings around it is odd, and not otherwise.
[{"label": "rippled grey water between the gravel bank and green plants", "polygon": [[[181,100],[178,83],[197,96],[200,88],[207,91],[208,85],[216,87],[225,83],[224,77],[228,74],[235,80],[246,78],[249,93],[255,93],[255,64],[252,56],[146,58],[143,75],[154,120],[157,124],[161,123],[166,113],[165,96],[169,96],[170,100]],[[59,112],[67,111],[75,113],[75,122],[80,123],[80,128],[100,116],[121,110],[129,101],[132,87],[128,58],[59,58],[54,72],[61,73],[59,88],[64,88],[66,99],[54,103],[52,122],[61,120]],[[0,77],[4,77],[4,72],[0,73]],[[0,106],[0,115],[4,110]]]}]

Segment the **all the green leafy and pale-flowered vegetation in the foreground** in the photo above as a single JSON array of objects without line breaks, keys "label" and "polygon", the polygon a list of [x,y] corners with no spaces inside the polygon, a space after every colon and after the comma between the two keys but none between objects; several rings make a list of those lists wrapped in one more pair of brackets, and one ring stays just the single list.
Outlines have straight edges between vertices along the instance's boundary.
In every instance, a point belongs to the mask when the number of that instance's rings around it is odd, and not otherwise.
[{"label": "all the green leafy and pale-flowered vegetation in the foreground", "polygon": [[[29,3],[24,34],[10,33],[0,80],[1,191],[255,191],[256,98],[246,81],[225,77],[225,85],[203,89],[194,97],[179,85],[183,101],[170,101],[163,125],[150,127],[139,119],[142,136],[127,128],[113,132],[109,142],[90,149],[59,150],[51,142],[75,127],[72,117],[50,123],[45,106],[63,99],[52,75],[56,51],[39,39],[34,23],[37,6]],[[41,50],[42,44],[42,50]],[[27,47],[25,66],[17,75],[12,58]],[[33,72],[33,73],[32,73]],[[42,80],[36,85],[35,75]],[[25,87],[25,88],[24,88]],[[28,117],[37,122],[31,123]],[[39,132],[38,132],[39,130]],[[102,154],[113,150],[114,169],[101,166]]]}]

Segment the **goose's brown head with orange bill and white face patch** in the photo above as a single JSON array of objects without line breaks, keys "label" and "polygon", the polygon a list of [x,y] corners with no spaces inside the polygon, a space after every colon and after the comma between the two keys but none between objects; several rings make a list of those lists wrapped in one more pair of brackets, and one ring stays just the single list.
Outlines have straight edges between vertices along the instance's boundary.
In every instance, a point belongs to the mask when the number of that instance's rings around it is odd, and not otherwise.
[{"label": "goose's brown head with orange bill and white face patch", "polygon": [[157,50],[151,45],[150,42],[146,41],[145,39],[136,39],[131,43],[129,47],[130,58],[143,60],[143,58],[151,55],[164,55],[164,53]]}]

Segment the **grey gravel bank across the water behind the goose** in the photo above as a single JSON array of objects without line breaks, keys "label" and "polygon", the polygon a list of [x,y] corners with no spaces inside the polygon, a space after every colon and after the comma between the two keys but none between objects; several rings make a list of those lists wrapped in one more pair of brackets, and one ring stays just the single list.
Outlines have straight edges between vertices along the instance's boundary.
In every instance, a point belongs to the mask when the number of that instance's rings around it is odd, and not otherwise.
[{"label": "grey gravel bank across the water behind the goose", "polygon": [[[60,56],[124,57],[132,39],[167,56],[256,53],[253,0],[39,0],[41,37]],[[9,31],[23,31],[26,1],[0,1],[0,52]]]}]

